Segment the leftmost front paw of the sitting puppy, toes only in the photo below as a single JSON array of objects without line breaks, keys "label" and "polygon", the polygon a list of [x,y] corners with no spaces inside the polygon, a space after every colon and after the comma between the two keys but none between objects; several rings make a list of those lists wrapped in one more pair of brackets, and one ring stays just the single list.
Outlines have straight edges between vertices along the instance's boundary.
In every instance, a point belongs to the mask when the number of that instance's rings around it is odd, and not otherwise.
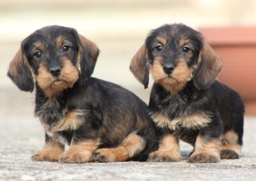
[{"label": "leftmost front paw of the sitting puppy, toes only", "polygon": [[54,150],[36,150],[31,159],[33,161],[58,161],[60,154]]}]

